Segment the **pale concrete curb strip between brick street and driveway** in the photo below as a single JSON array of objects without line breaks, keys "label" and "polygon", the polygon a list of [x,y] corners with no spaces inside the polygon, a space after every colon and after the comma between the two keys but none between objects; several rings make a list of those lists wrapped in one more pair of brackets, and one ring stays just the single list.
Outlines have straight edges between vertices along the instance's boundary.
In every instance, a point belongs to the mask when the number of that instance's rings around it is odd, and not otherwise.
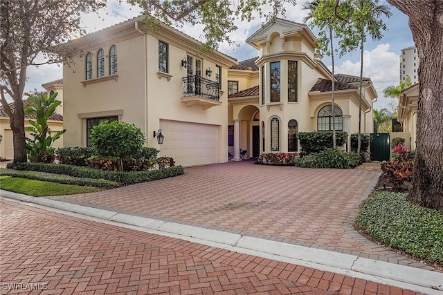
[{"label": "pale concrete curb strip between brick street and driveway", "polygon": [[[35,198],[19,193],[0,190],[0,196],[36,207],[52,209],[57,213],[94,220],[150,234],[180,238],[190,242],[219,247],[242,254],[260,256],[285,263],[312,267],[327,272],[352,276],[377,283],[411,289],[424,294],[443,295],[443,273],[426,269],[397,265],[369,258],[334,251],[302,247],[284,242],[242,236],[215,229],[204,229],[191,225],[181,225],[130,214],[96,209],[78,204]],[[435,289],[437,287],[438,289]],[[434,288],[434,289],[433,289]]]}]

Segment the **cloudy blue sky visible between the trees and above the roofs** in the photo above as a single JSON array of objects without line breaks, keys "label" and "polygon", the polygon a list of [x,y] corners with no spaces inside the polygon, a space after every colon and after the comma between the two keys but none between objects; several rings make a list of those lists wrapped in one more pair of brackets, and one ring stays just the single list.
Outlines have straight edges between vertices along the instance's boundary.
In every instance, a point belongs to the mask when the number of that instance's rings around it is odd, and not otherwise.
[{"label": "cloudy blue sky visible between the trees and above the roofs", "polygon": [[[295,7],[287,7],[285,19],[302,23],[307,11],[302,10],[302,4],[305,0],[299,0]],[[388,5],[392,11],[392,17],[390,19],[384,19],[388,30],[383,33],[383,38],[378,41],[372,41],[368,39],[365,44],[365,54],[363,61],[363,75],[370,77],[374,83],[374,87],[377,90],[379,98],[375,102],[375,108],[381,108],[388,106],[389,102],[393,99],[383,97],[383,89],[390,85],[399,84],[399,55],[402,48],[413,46],[413,37],[408,26],[408,17],[402,12],[390,6],[385,1],[382,1]],[[125,21],[129,18],[140,15],[141,10],[134,6],[129,6],[126,3],[122,5],[118,4],[117,0],[108,0],[107,7],[100,11],[98,15],[82,15],[82,24],[87,28],[88,32],[94,32],[101,28],[114,25],[121,21]],[[236,25],[239,28],[236,32],[230,35],[237,46],[230,46],[228,44],[220,44],[219,50],[222,53],[235,57],[239,61],[257,56],[257,51],[245,44],[246,38],[255,32],[262,25],[264,19],[255,19],[251,23],[237,21]],[[184,25],[178,28],[182,32],[201,39],[201,33],[203,32],[203,26],[190,26]],[[313,29],[314,35],[318,33],[318,30]],[[360,75],[360,53],[355,51],[348,53],[347,55],[338,58],[336,57],[336,73],[343,73],[348,75]],[[323,62],[327,65],[331,65],[330,57],[325,56]],[[34,88],[37,90],[43,90],[42,84],[53,81],[55,79],[62,78],[62,66],[61,65],[45,65],[28,68],[28,82],[26,84],[26,91],[31,91]]]}]

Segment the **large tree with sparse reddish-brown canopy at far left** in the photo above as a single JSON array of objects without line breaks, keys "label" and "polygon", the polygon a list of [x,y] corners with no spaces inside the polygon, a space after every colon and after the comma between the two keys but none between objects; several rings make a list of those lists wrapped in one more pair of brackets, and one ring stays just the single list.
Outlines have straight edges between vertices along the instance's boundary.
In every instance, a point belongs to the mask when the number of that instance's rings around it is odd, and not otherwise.
[{"label": "large tree with sparse reddish-brown canopy at far left", "polygon": [[[14,163],[26,162],[23,95],[28,66],[69,64],[77,48],[64,44],[83,32],[80,12],[93,12],[106,0],[16,1],[0,5],[0,97],[9,117]],[[44,57],[42,60],[40,57]],[[14,110],[6,100],[12,97]]]}]

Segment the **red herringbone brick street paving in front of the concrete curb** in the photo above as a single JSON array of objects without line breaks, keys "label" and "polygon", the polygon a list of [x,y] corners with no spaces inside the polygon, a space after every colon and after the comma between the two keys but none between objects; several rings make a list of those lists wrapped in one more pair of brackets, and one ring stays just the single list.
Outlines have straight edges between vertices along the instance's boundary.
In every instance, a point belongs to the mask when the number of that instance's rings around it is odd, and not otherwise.
[{"label": "red herringbone brick street paving in front of the concrete curb", "polygon": [[0,205],[1,294],[415,294],[7,200]]}]

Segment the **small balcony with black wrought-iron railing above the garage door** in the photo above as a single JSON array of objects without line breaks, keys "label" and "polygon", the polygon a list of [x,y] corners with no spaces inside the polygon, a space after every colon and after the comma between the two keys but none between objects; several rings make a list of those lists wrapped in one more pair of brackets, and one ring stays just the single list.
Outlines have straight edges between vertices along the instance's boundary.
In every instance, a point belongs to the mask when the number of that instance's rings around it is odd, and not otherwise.
[{"label": "small balcony with black wrought-iron railing above the garage door", "polygon": [[199,76],[183,77],[183,97],[186,106],[201,106],[204,110],[221,105],[219,84]]}]

